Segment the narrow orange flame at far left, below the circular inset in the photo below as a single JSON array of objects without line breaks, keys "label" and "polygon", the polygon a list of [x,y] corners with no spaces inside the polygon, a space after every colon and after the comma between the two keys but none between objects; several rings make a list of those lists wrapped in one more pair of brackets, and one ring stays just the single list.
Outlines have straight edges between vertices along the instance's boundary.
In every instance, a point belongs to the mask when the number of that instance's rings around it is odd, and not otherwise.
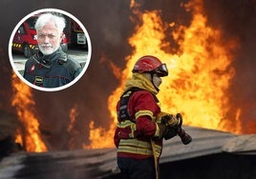
[{"label": "narrow orange flame at far left, below the circular inset", "polygon": [[14,73],[12,74],[12,89],[14,95],[11,105],[15,107],[17,116],[24,127],[17,130],[16,142],[23,144],[27,151],[47,151],[39,132],[38,120],[32,113],[34,102],[31,89],[22,83]]}]

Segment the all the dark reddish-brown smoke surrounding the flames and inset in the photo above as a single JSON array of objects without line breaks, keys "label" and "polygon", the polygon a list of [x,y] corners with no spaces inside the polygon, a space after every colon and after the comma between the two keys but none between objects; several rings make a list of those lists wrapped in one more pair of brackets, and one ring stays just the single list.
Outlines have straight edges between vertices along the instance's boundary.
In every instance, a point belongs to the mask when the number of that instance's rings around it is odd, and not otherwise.
[{"label": "all the dark reddish-brown smoke surrounding the flames and inset", "polygon": [[[191,15],[181,6],[180,0],[138,0],[140,10],[160,10],[164,21],[176,22],[178,25],[189,25]],[[255,1],[253,0],[205,0],[204,7],[208,17],[208,24],[221,28],[224,39],[238,38],[241,48],[236,51],[232,66],[236,70],[230,89],[230,99],[233,108],[230,110],[230,119],[234,119],[234,111],[242,109],[242,119],[246,126],[256,127],[255,110],[255,38],[256,14]],[[124,58],[132,52],[127,44],[127,39],[135,30],[131,22],[133,15],[130,10],[129,0],[86,0],[86,1],[34,1],[24,0],[17,3],[14,0],[1,1],[1,35],[0,35],[0,109],[14,111],[11,108],[11,65],[8,57],[8,43],[11,31],[16,24],[33,10],[55,8],[66,10],[79,19],[91,37],[93,53],[88,70],[70,89],[58,92],[42,92],[33,89],[36,114],[41,124],[43,133],[49,137],[53,149],[69,149],[68,141],[73,136],[69,134],[70,109],[76,107],[77,121],[75,131],[75,148],[81,148],[81,141],[88,142],[88,124],[91,120],[96,122],[96,127],[108,128],[110,124],[107,100],[109,95],[118,86],[108,63],[100,61],[104,58],[114,62],[117,67],[124,68]],[[21,8],[22,7],[22,8]],[[166,31],[166,34],[171,34]],[[167,35],[166,40],[172,41]],[[150,42],[149,42],[150,43]],[[175,43],[171,50],[178,50]],[[167,50],[170,50],[167,49]],[[230,123],[231,125],[232,123]],[[250,128],[251,129],[251,128]],[[254,128],[256,129],[256,128]]]}]

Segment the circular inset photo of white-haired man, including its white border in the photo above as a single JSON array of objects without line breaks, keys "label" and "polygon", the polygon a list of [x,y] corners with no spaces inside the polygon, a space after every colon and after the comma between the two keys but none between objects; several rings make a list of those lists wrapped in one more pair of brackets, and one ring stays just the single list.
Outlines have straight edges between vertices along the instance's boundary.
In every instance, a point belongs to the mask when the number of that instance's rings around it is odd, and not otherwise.
[{"label": "circular inset photo of white-haired man, including its white border", "polygon": [[64,10],[36,10],[11,33],[9,57],[17,76],[33,89],[71,87],[87,70],[92,55],[89,34]]}]

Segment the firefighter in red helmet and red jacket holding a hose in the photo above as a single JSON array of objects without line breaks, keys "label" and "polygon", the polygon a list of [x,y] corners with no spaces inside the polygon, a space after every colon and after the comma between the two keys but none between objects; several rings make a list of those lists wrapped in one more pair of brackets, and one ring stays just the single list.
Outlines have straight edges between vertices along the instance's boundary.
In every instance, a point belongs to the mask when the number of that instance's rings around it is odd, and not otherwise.
[{"label": "firefighter in red helmet and red jacket holding a hose", "polygon": [[160,59],[142,56],[132,72],[117,103],[117,166],[123,179],[156,179],[162,139],[176,136],[181,120],[160,110],[156,95],[161,77],[168,75]]}]

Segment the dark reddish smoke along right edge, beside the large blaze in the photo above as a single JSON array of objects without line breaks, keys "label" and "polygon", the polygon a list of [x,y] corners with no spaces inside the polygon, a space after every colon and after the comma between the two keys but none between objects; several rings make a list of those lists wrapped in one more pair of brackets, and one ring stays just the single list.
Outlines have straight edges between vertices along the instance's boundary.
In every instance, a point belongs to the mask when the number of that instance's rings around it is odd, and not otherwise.
[{"label": "dark reddish smoke along right edge, beside the large blaze", "polygon": [[239,118],[243,132],[256,132],[256,1],[207,0],[205,11],[209,17],[209,24],[222,29],[224,41],[232,38],[239,41],[238,50],[233,51],[235,58],[232,66],[235,69],[235,76],[229,89],[232,104],[227,114],[229,125],[234,125],[236,113],[241,109]]}]

